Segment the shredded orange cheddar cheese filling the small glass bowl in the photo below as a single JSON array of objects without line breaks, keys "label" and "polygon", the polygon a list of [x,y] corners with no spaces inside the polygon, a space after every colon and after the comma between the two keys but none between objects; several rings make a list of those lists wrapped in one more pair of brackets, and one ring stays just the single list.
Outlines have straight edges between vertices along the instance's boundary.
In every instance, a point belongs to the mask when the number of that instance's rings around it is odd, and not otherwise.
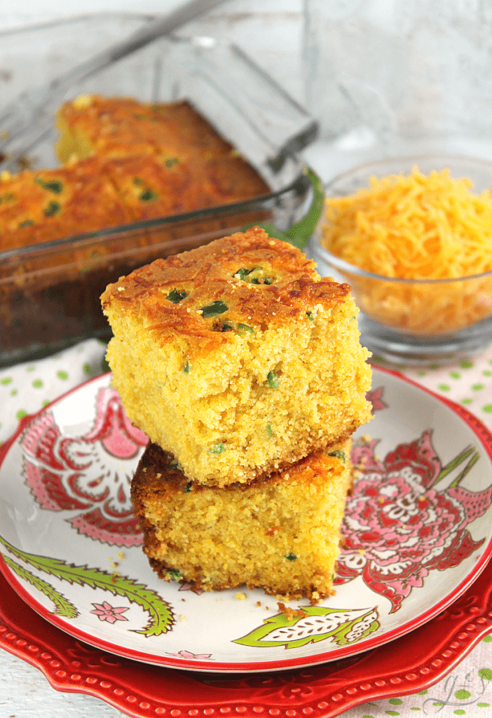
[{"label": "shredded orange cheddar cheese filling the small glass bowl", "polygon": [[326,200],[322,243],[333,255],[388,281],[348,277],[361,309],[401,330],[432,335],[492,314],[492,192],[470,190],[449,169],[371,177],[370,186]]}]

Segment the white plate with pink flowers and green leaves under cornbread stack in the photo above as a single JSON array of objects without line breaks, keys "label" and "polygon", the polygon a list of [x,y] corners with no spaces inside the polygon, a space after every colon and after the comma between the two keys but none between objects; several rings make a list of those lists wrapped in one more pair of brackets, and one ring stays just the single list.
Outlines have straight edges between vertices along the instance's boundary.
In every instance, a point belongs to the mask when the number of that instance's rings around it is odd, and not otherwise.
[{"label": "white plate with pink flowers and green leaves under cornbread stack", "polygon": [[[260,590],[161,582],[128,485],[146,438],[104,375],[25,419],[2,450],[0,568],[40,616],[110,653],[193,671],[277,671],[353,656],[435,617],[486,566],[492,436],[478,419],[374,369],[356,434],[336,595],[280,610]],[[299,609],[299,610],[297,610]]]}]

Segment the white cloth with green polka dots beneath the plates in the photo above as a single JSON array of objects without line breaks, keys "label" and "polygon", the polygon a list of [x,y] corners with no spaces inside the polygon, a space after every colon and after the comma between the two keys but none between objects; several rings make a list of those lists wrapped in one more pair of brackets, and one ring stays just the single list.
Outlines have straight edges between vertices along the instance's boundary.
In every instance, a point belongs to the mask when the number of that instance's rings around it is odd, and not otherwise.
[{"label": "white cloth with green polka dots beneath the plates", "polygon": [[[105,345],[88,340],[60,354],[0,370],[0,444],[20,419],[106,370]],[[437,394],[463,404],[492,429],[492,348],[473,361],[451,367],[398,370]],[[386,718],[416,714],[440,718],[488,718],[492,714],[492,636],[432,688],[410,696],[365,703],[344,718]]]}]

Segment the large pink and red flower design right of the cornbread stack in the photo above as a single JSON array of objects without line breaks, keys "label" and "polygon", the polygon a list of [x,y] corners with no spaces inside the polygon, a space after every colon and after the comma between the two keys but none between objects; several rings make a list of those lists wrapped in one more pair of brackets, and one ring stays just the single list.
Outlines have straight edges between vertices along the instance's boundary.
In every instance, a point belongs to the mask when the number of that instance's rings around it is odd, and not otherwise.
[{"label": "large pink and red flower design right of the cornbread stack", "polygon": [[[400,444],[384,461],[375,453],[377,440],[356,445],[352,452],[361,477],[347,500],[334,583],[361,576],[389,599],[392,612],[430,571],[458,566],[485,540],[474,541],[466,526],[488,509],[492,486],[478,492],[459,486],[478,453],[467,447],[443,467],[431,436],[428,430]],[[467,459],[447,488],[435,488]]]}]

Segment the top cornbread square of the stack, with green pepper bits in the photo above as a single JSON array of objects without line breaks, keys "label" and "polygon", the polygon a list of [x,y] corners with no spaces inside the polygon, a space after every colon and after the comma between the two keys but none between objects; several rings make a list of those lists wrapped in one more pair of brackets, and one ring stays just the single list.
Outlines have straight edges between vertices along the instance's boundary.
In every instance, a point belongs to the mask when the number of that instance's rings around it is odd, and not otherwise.
[{"label": "top cornbread square of the stack, with green pepper bits", "polygon": [[315,266],[255,227],[103,293],[123,406],[190,480],[250,482],[369,421],[350,287]]}]

